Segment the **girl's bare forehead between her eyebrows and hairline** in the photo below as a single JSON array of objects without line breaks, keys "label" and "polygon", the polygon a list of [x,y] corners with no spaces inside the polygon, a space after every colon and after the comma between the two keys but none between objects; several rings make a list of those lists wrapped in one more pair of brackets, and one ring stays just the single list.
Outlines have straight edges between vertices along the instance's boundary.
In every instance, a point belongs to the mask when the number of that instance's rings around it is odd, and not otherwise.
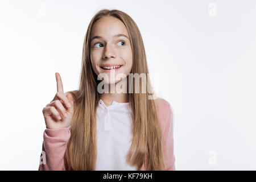
[{"label": "girl's bare forehead between her eyebrows and hairline", "polygon": [[109,38],[117,34],[125,34],[129,37],[125,24],[121,20],[113,16],[105,16],[93,24],[90,37],[102,36],[102,38]]}]

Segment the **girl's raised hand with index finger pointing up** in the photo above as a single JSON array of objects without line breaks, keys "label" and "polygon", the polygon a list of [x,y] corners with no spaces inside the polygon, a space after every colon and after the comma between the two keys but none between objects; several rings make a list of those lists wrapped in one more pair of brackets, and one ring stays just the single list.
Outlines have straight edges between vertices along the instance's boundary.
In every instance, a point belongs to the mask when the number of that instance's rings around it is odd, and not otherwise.
[{"label": "girl's raised hand with index finger pointing up", "polygon": [[65,94],[59,73],[55,73],[57,93],[53,100],[43,108],[47,129],[62,129],[71,125],[74,113],[74,98],[71,93]]}]

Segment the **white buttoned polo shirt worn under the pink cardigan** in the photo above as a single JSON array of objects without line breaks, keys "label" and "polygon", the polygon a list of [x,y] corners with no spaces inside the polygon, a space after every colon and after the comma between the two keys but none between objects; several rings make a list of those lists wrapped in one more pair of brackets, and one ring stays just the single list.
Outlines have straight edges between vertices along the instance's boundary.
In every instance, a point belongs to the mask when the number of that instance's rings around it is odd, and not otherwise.
[{"label": "white buttoned polo shirt worn under the pink cardigan", "polygon": [[109,106],[100,100],[97,106],[97,158],[96,171],[136,171],[126,163],[131,147],[133,119],[129,102],[113,101]]}]

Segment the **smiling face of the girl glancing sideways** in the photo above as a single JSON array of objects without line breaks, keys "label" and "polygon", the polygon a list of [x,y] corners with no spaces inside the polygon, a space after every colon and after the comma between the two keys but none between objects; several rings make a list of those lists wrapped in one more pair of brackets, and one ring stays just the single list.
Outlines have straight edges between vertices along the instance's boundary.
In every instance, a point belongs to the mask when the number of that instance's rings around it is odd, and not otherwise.
[{"label": "smiling face of the girl glancing sideways", "polygon": [[[90,60],[96,75],[106,73],[109,84],[120,81],[118,78],[110,81],[110,72],[124,73],[127,76],[133,65],[133,53],[129,34],[125,24],[113,16],[105,16],[93,24],[90,39]],[[105,78],[104,78],[105,80]]]}]

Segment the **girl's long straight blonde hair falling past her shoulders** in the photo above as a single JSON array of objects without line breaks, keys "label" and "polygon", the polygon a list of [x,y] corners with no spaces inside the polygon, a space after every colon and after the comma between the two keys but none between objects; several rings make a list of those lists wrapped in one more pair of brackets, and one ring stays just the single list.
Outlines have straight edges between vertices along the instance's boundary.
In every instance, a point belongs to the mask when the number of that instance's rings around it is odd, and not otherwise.
[{"label": "girl's long straight blonde hair falling past her shoulders", "polygon": [[[126,13],[119,10],[101,10],[93,16],[89,23],[82,49],[82,69],[80,87],[76,94],[70,93],[76,99],[76,108],[71,123],[71,138],[65,152],[66,163],[72,170],[95,170],[96,145],[96,109],[99,101],[97,92],[97,75],[90,62],[90,33],[93,24],[104,16],[113,16],[125,24],[130,36],[133,52],[131,73],[145,73],[148,77],[148,67],[144,44],[137,24]],[[148,81],[150,84],[150,81]],[[151,87],[151,84],[150,84]],[[127,154],[127,163],[137,166],[139,170],[143,163],[146,170],[162,170],[165,167],[162,148],[162,131],[158,121],[158,113],[154,100],[148,100],[146,93],[127,93],[133,118],[133,140]]]}]

